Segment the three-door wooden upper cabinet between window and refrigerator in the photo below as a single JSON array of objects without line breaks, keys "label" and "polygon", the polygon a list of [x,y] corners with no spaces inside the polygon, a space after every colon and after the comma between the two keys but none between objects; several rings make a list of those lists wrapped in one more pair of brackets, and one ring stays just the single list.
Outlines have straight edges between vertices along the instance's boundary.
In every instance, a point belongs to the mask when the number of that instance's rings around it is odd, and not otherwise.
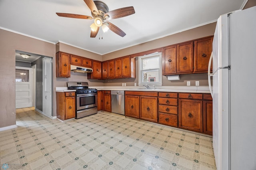
[{"label": "three-door wooden upper cabinet between window and refrigerator", "polygon": [[207,73],[213,36],[170,45],[164,48],[162,74]]}]

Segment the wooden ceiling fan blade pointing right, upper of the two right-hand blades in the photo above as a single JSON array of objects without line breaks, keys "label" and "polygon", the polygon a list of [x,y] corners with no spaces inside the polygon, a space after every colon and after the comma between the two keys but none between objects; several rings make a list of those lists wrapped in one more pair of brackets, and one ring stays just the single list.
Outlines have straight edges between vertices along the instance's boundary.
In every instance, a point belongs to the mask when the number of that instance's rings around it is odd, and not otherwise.
[{"label": "wooden ceiling fan blade pointing right, upper of the two right-hand blades", "polygon": [[104,14],[104,18],[107,19],[116,19],[116,18],[122,18],[125,16],[129,16],[135,13],[135,10],[133,8],[133,6],[129,6],[126,8],[119,8],[116,10],[112,10],[110,12],[107,12],[106,14]]}]

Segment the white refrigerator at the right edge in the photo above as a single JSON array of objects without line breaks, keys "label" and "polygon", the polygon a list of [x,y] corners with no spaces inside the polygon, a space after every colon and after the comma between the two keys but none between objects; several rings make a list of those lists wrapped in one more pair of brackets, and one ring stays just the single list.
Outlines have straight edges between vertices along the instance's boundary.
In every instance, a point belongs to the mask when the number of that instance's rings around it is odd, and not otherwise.
[{"label": "white refrigerator at the right edge", "polygon": [[212,48],[217,169],[256,170],[256,6],[220,16]]}]

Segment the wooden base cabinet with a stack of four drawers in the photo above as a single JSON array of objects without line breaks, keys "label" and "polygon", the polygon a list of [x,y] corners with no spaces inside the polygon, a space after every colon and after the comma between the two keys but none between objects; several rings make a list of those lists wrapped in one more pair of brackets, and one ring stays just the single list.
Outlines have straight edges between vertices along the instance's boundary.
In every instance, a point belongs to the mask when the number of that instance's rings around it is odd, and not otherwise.
[{"label": "wooden base cabinet with a stack of four drawers", "polygon": [[158,123],[178,127],[178,93],[158,93]]}]

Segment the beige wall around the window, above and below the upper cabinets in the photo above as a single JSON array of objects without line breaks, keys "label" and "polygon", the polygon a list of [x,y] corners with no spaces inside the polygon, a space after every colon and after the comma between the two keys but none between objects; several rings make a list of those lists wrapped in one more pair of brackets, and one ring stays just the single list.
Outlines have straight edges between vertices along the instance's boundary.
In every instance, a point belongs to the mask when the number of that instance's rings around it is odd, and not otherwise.
[{"label": "beige wall around the window, above and below the upper cabinets", "polygon": [[[197,38],[214,35],[216,22],[200,26],[191,30],[173,34],[164,38],[153,40],[150,42],[142,43],[112,53],[108,53],[102,56],[102,60],[106,61],[116,57],[122,57],[125,55],[131,55],[142,51],[148,51],[159,47],[164,47],[176,43],[186,42]],[[191,85],[196,85],[196,81],[200,81],[200,85],[208,85],[208,75],[205,74],[190,74],[180,75],[180,80],[169,81],[166,76],[162,76],[162,85],[186,85],[187,81],[191,81]],[[134,83],[138,84],[138,58],[136,58],[136,78],[135,79],[115,79],[115,80],[104,80],[104,86],[122,86],[122,83],[133,86]]]}]

